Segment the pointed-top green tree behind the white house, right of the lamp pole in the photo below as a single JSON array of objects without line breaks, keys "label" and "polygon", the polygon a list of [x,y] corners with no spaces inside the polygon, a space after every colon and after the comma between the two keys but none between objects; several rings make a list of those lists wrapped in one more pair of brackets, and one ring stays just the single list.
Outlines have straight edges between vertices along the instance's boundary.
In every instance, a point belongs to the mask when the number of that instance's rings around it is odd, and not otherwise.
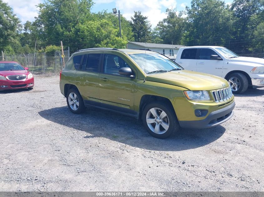
[{"label": "pointed-top green tree behind the white house, right of the lamp pole", "polygon": [[182,37],[186,29],[186,19],[183,12],[177,14],[176,9],[167,9],[167,18],[160,21],[156,27],[160,39],[164,44],[182,44]]}]

